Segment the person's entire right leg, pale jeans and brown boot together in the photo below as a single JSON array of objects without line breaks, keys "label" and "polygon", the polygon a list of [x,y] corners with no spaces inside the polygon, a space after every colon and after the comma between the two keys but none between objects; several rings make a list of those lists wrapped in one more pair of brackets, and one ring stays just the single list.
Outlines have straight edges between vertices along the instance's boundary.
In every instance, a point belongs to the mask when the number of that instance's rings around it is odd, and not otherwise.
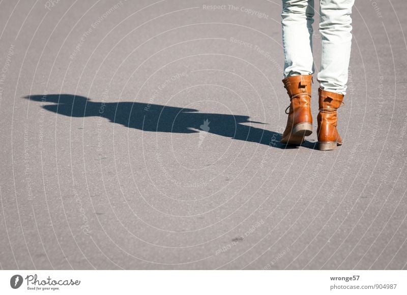
[{"label": "person's entire right leg, pale jeans and brown boot together", "polygon": [[338,108],[346,94],[354,0],[320,0],[319,3],[322,62],[317,75],[320,85],[317,134],[319,150],[326,151],[342,144],[336,126]]}]

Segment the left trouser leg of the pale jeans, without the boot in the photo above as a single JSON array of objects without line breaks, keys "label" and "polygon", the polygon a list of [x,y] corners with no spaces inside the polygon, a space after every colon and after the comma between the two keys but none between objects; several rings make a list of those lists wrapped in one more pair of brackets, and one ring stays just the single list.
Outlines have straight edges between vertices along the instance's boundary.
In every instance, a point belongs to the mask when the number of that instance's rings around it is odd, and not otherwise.
[{"label": "left trouser leg of the pale jeans, without the boot", "polygon": [[282,0],[284,78],[314,73],[312,23],[314,0]]}]

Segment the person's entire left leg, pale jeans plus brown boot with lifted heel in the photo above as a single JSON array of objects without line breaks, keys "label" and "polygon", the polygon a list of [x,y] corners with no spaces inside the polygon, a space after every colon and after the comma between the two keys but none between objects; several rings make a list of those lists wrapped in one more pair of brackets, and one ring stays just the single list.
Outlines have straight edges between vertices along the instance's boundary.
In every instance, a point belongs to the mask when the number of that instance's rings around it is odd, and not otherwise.
[{"label": "person's entire left leg, pale jeans plus brown boot with lifted heel", "polygon": [[284,87],[290,98],[287,125],[280,142],[300,145],[312,133],[311,83],[313,0],[283,0],[281,26]]}]

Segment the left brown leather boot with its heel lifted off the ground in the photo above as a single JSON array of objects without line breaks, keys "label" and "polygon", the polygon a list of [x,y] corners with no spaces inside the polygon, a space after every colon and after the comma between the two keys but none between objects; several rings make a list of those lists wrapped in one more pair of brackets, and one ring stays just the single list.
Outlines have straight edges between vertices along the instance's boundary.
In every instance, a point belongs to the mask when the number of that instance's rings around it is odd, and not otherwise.
[{"label": "left brown leather boot with its heel lifted off the ground", "polygon": [[[312,75],[298,75],[283,79],[290,98],[287,126],[280,142],[300,145],[312,133],[311,83]],[[287,107],[288,109],[288,107]],[[287,110],[285,110],[287,113]]]}]

